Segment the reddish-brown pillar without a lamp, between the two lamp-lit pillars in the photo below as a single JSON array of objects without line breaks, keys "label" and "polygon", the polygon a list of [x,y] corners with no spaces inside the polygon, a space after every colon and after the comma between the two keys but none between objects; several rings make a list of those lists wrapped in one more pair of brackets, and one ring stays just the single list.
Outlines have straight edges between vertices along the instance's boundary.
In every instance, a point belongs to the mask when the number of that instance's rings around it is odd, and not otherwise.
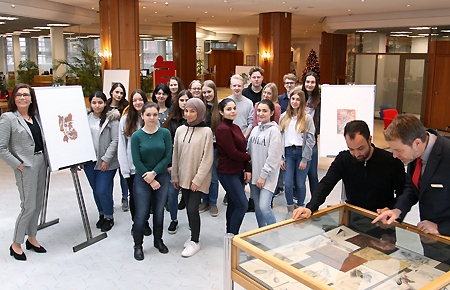
[{"label": "reddish-brown pillar without a lamp, between the two lamp-lit pillars", "polygon": [[195,22],[172,23],[172,50],[177,76],[187,87],[196,78]]}]

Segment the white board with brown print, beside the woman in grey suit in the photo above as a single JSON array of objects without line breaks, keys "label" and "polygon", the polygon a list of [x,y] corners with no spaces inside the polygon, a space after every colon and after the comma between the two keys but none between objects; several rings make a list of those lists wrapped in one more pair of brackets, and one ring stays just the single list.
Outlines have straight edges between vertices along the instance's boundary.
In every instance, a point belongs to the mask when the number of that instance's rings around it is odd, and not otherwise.
[{"label": "white board with brown print, beside the woman in grey suit", "polygon": [[81,86],[34,90],[51,171],[96,160]]}]

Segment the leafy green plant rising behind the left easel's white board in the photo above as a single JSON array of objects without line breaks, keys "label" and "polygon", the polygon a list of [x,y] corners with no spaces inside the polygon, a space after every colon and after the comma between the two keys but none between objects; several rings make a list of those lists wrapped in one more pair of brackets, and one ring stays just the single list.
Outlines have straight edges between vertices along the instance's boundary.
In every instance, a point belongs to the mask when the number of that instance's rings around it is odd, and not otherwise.
[{"label": "leafy green plant rising behind the left easel's white board", "polygon": [[[89,49],[81,42],[76,44],[80,52],[79,57],[72,57],[70,60],[55,60],[53,70],[56,71],[61,65],[66,66],[66,75],[69,78],[68,84],[80,84],[83,87],[83,94],[88,97],[92,92],[102,90],[101,60],[93,49]],[[76,78],[73,78],[76,76]]]}]

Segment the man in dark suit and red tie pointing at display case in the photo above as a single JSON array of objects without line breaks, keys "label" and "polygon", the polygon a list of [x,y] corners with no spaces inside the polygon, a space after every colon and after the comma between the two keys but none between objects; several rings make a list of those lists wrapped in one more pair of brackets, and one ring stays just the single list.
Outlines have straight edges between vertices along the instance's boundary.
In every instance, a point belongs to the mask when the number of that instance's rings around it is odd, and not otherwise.
[{"label": "man in dark suit and red tie pointing at display case", "polygon": [[425,130],[412,115],[398,115],[384,131],[394,157],[408,163],[406,185],[392,210],[372,223],[403,221],[419,202],[419,230],[450,236],[450,140]]}]

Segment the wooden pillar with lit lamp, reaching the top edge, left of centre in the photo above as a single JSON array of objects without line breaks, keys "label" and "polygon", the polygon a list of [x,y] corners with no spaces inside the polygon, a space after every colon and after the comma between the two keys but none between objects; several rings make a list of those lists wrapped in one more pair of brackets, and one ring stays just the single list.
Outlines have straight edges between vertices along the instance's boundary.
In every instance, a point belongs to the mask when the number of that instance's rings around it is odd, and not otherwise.
[{"label": "wooden pillar with lit lamp, reaching the top edge, left of centre", "polygon": [[138,0],[100,0],[100,51],[102,70],[129,70],[130,91],[141,87]]}]

